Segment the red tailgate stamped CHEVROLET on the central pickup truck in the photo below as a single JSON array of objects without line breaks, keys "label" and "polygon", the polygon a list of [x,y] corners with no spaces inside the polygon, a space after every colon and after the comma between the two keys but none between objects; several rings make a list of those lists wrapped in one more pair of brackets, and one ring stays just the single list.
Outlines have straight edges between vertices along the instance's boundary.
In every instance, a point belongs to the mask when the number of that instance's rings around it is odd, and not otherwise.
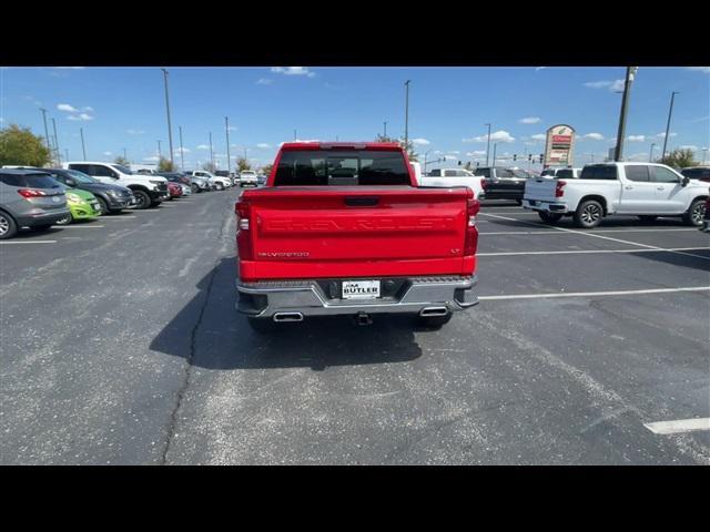
[{"label": "red tailgate stamped CHEVROLET on the central pickup truck", "polygon": [[459,274],[467,188],[273,187],[247,191],[243,279]]}]

